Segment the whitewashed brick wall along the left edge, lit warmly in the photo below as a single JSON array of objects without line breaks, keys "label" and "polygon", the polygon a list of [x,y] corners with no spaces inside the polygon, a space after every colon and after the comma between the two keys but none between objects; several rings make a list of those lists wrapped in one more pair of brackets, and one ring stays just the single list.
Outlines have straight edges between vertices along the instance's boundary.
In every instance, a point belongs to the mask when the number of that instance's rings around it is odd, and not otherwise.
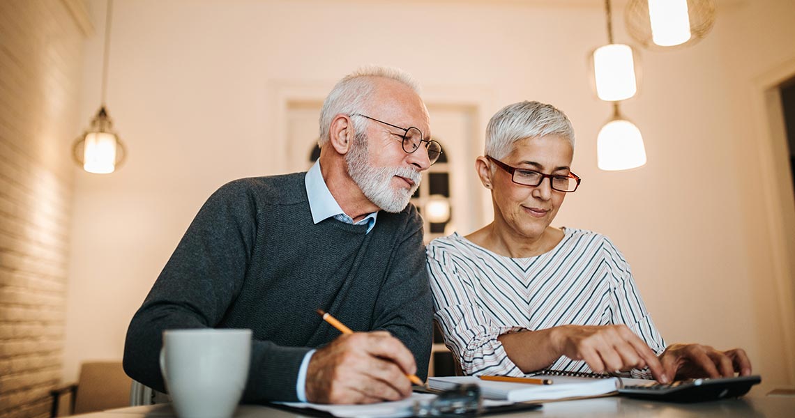
[{"label": "whitewashed brick wall along the left edge, lit warmly", "polygon": [[0,0],[0,416],[48,416],[61,380],[85,10]]}]

